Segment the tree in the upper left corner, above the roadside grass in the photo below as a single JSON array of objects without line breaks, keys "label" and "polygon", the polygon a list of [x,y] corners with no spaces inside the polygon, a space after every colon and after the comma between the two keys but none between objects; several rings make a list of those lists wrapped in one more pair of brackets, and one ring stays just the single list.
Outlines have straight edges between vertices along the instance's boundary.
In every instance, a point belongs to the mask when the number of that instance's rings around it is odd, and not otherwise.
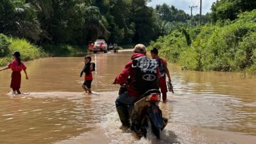
[{"label": "tree in the upper left corner, above the roadside grass", "polygon": [[0,33],[38,41],[41,34],[37,12],[25,1],[3,0],[0,2]]}]

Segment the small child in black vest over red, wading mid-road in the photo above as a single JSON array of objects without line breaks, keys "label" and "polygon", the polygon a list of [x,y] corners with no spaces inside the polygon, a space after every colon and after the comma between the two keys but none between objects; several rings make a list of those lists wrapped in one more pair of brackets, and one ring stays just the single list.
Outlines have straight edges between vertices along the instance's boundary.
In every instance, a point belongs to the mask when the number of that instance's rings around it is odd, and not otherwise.
[{"label": "small child in black vest over red, wading mid-road", "polygon": [[[94,64],[94,63],[93,63]],[[94,65],[91,63],[91,56],[85,56],[85,67],[83,67],[83,70],[80,73],[80,77],[82,77],[83,73],[85,73],[85,82],[82,84],[83,90],[88,94],[91,93],[91,82],[93,81],[93,74],[92,71],[94,71]]]}]

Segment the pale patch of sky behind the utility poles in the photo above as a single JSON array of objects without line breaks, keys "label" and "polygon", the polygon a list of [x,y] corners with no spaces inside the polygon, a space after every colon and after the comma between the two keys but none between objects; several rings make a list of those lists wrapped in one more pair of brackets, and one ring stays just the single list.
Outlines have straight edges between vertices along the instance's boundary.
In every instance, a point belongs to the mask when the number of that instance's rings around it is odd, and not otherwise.
[{"label": "pale patch of sky behind the utility poles", "polygon": [[[207,12],[211,12],[211,5],[216,0],[202,0],[202,14],[206,14]],[[148,3],[148,6],[156,7],[156,5],[162,5],[166,3],[167,5],[173,5],[177,9],[184,10],[186,13],[190,14],[191,9],[189,6],[198,6],[192,9],[192,14],[199,14],[200,13],[200,0],[152,0]]]}]

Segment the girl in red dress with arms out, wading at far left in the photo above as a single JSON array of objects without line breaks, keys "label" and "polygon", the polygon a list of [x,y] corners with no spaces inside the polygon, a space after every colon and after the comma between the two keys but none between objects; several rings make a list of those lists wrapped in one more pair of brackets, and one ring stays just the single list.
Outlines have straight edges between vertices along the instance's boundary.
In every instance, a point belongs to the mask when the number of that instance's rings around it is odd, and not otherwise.
[{"label": "girl in red dress with arms out, wading at far left", "polygon": [[21,83],[21,73],[20,71],[24,71],[26,75],[26,79],[28,79],[28,75],[26,72],[26,66],[24,63],[20,60],[20,52],[14,52],[12,54],[14,60],[12,60],[9,65],[3,69],[0,69],[0,71],[3,71],[5,69],[12,69],[12,80],[11,80],[11,88],[12,88],[12,94],[21,94],[20,92],[20,83]]}]

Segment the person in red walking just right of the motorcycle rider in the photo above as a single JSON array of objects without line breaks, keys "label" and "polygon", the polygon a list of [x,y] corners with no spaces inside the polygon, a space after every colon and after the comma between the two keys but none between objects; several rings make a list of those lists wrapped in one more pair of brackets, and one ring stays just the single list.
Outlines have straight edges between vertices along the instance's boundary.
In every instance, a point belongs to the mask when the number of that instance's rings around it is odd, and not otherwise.
[{"label": "person in red walking just right of the motorcycle rider", "polygon": [[170,73],[169,73],[169,69],[167,68],[167,62],[164,58],[160,58],[158,56],[158,48],[153,48],[152,50],[150,50],[151,56],[153,59],[158,60],[158,65],[160,68],[160,89],[161,89],[161,93],[163,96],[163,101],[166,102],[167,101],[167,86],[166,86],[166,76],[168,77],[168,81],[171,82],[171,77],[170,77]]}]

